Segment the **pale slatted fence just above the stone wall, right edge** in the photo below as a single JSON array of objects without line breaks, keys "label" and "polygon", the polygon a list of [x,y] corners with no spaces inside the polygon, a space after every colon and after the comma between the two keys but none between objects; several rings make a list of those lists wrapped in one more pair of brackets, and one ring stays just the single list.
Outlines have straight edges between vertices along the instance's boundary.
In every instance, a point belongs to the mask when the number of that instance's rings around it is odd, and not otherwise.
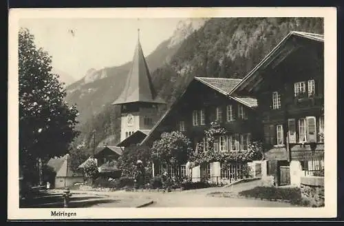
[{"label": "pale slatted fence just above the stone wall, right edge", "polygon": [[314,152],[301,161],[305,176],[324,176],[324,153]]}]

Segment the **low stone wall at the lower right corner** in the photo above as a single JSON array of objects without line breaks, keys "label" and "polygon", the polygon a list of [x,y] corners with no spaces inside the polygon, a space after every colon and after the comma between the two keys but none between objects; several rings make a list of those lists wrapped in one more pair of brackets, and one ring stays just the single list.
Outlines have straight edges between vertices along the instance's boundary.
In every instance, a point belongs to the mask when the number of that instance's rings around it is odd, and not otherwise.
[{"label": "low stone wall at the lower right corner", "polygon": [[323,176],[301,177],[301,198],[305,205],[323,207],[325,205]]}]

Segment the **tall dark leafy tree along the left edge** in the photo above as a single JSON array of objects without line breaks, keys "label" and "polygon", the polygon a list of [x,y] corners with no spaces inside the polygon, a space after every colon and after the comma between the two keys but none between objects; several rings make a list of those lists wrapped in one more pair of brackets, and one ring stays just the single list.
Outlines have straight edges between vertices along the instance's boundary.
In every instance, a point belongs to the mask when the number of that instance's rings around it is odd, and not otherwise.
[{"label": "tall dark leafy tree along the left edge", "polygon": [[[34,172],[37,160],[63,156],[74,137],[76,106],[63,100],[66,92],[52,74],[52,58],[36,48],[34,36],[19,30],[19,163]],[[25,170],[26,169],[26,170]]]}]

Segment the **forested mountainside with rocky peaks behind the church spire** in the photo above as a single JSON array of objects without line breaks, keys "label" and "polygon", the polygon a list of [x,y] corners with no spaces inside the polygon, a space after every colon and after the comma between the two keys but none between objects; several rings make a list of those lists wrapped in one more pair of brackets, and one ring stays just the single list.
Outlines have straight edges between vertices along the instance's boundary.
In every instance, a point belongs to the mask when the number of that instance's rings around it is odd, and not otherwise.
[{"label": "forested mountainside with rocky peaks behind the church spire", "polygon": [[[195,76],[243,78],[292,30],[323,34],[321,18],[214,18],[195,24],[178,25],[147,57],[155,88],[169,105]],[[120,113],[109,103],[122,91],[129,66],[108,68],[105,78],[92,83],[69,85],[68,101],[85,117],[76,143],[89,145],[95,128],[97,143],[116,144]]]}]

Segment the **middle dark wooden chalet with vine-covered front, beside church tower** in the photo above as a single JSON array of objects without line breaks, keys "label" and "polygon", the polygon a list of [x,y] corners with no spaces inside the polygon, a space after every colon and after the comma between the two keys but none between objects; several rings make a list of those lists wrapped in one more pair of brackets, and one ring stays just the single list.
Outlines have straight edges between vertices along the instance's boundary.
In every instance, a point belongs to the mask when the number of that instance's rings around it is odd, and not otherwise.
[{"label": "middle dark wooden chalet with vine-covered front, beside church tower", "polygon": [[[250,141],[261,137],[260,126],[257,125],[255,108],[257,100],[249,97],[230,96],[230,92],[241,82],[240,79],[201,78],[195,77],[177,101],[171,105],[164,116],[154,125],[149,134],[140,143],[141,147],[151,147],[160,138],[162,132],[183,132],[197,150],[204,143],[204,130],[213,122],[226,129],[226,134],[215,138],[214,150],[204,152],[245,152]],[[228,170],[222,170],[221,163],[201,164],[189,171],[189,163],[182,165],[180,174],[191,176],[193,181],[206,180],[226,183],[230,177],[241,172],[240,164]],[[161,167],[155,164],[153,174],[160,174]],[[174,175],[173,169],[169,174]],[[192,174],[192,175],[191,175]]]}]

